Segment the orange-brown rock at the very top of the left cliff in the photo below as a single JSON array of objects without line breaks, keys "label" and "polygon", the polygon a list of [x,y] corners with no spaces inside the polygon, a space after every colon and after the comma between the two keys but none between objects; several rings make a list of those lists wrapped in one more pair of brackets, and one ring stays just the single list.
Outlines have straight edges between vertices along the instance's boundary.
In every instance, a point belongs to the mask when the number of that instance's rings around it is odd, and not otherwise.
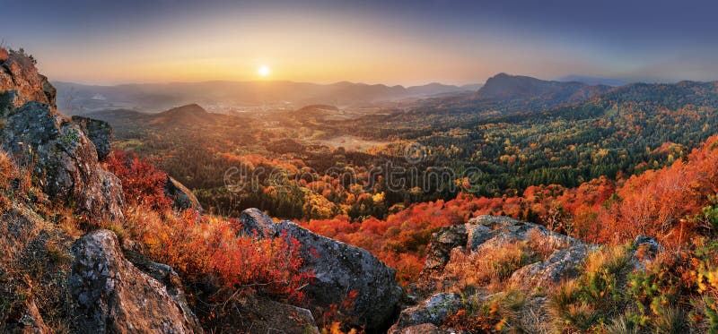
[{"label": "orange-brown rock at the very top of the left cliff", "polygon": [[0,48],[0,92],[12,91],[12,105],[37,101],[56,108],[57,90],[38,73],[34,60],[23,52]]}]

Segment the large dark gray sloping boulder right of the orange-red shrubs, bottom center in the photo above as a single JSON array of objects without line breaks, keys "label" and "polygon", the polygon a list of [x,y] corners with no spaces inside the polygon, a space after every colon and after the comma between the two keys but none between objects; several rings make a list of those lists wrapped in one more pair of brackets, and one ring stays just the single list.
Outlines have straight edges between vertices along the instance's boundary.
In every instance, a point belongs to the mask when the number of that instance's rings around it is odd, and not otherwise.
[{"label": "large dark gray sloping boulder right of the orange-red shrubs, bottom center", "polygon": [[403,295],[395,279],[396,270],[361,248],[319,236],[291,221],[271,223],[271,218],[259,210],[245,211],[240,220],[241,233],[254,235],[254,231],[264,231],[262,235],[266,237],[284,236],[299,241],[302,269],[312,270],[316,276],[304,289],[313,303],[324,307],[338,305],[349,292],[356,291],[351,312],[356,319],[354,325],[369,331],[389,327]]}]

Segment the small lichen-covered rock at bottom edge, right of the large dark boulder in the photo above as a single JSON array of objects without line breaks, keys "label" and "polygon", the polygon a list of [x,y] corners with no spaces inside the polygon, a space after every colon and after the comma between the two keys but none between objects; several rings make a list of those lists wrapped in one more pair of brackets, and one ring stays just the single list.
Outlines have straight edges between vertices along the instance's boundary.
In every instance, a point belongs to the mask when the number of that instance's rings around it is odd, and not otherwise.
[{"label": "small lichen-covered rock at bottom edge, right of the large dark boulder", "polygon": [[457,294],[432,295],[421,304],[402,311],[389,333],[404,333],[407,328],[425,323],[441,325],[447,316],[459,311],[461,304],[461,296]]}]

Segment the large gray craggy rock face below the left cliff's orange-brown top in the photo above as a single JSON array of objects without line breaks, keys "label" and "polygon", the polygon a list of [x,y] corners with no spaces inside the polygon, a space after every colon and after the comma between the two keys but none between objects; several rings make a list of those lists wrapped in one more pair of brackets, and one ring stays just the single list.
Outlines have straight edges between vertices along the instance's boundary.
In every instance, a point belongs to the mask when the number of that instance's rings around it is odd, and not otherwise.
[{"label": "large gray craggy rock face below the left cliff's orange-brown top", "polygon": [[98,164],[83,131],[47,105],[29,102],[8,117],[3,148],[31,164],[43,191],[54,201],[74,203],[92,220],[123,217],[122,186]]}]

